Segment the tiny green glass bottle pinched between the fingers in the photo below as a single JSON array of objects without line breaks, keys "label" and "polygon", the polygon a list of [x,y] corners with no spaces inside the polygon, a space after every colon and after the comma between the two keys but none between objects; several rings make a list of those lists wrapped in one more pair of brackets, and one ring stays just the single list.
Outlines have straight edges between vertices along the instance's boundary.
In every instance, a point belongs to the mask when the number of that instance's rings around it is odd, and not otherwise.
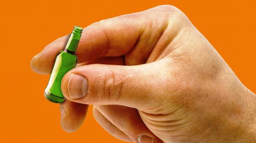
[{"label": "tiny green glass bottle pinched between the fingers", "polygon": [[64,101],[64,95],[61,92],[61,80],[63,76],[71,69],[76,67],[77,56],[76,49],[81,38],[83,28],[75,26],[64,50],[58,53],[48,85],[44,91],[44,96],[53,103]]}]

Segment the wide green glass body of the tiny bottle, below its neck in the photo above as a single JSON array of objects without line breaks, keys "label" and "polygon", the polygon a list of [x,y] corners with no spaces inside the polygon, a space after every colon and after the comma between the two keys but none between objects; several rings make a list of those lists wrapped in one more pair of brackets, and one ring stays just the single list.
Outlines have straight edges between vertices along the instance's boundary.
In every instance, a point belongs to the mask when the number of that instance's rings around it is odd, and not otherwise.
[{"label": "wide green glass body of the tiny bottle, below its neck", "polygon": [[71,69],[76,67],[77,56],[74,53],[61,51],[55,59],[54,67],[44,91],[44,96],[53,103],[64,101],[64,95],[61,92],[61,80],[63,76]]}]

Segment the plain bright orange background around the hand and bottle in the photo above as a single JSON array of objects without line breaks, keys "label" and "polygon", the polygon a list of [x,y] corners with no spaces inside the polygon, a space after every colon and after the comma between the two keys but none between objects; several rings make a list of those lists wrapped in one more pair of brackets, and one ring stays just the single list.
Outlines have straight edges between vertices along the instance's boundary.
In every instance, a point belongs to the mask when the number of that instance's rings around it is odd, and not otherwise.
[{"label": "plain bright orange background around the hand and bottle", "polygon": [[123,143],[96,123],[92,107],[77,132],[64,132],[58,104],[43,95],[49,76],[33,73],[29,62],[74,25],[162,4],[180,8],[256,93],[255,0],[2,0],[0,143]]}]

